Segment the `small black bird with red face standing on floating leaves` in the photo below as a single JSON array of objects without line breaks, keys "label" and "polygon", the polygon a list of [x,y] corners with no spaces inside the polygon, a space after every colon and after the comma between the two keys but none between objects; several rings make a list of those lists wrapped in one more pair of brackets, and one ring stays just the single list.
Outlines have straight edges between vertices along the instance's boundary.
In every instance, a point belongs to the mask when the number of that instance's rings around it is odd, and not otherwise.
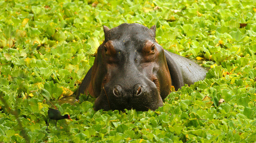
[{"label": "small black bird with red face standing on floating leaves", "polygon": [[[61,119],[70,119],[70,117],[69,117],[68,114],[66,114],[66,115],[64,115],[64,116],[61,116],[60,111],[59,111],[59,110],[56,110],[56,109],[53,109],[53,108],[49,108],[49,110],[48,110],[48,116],[49,116],[50,119],[49,119],[49,122],[48,122],[48,125],[47,125],[46,130],[48,130],[48,126],[49,126],[49,123],[50,123],[50,120],[51,120],[51,119],[56,120],[56,125],[55,125],[55,127],[56,127],[57,130],[58,130],[58,128],[57,128],[57,121],[58,121],[58,120],[61,120]],[[70,120],[72,120],[72,119],[70,119]]]}]

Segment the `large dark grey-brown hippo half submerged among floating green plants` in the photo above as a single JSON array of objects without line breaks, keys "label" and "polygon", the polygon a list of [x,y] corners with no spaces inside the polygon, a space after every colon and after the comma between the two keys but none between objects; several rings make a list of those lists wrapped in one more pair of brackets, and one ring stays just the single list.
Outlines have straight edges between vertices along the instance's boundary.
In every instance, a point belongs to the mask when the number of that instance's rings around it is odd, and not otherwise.
[{"label": "large dark grey-brown hippo half submerged among floating green plants", "polygon": [[77,100],[80,94],[95,97],[95,110],[156,110],[171,86],[178,90],[206,76],[204,68],[157,43],[156,25],[124,23],[103,30],[105,40],[76,93]]}]

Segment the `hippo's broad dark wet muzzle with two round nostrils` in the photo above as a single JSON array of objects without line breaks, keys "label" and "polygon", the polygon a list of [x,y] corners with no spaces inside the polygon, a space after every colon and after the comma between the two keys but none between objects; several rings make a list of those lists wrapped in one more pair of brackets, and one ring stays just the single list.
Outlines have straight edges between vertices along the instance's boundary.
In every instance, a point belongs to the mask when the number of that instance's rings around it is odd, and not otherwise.
[{"label": "hippo's broad dark wet muzzle with two round nostrils", "polygon": [[[123,74],[121,74],[123,75]],[[156,84],[146,76],[115,76],[104,85],[100,96],[95,101],[96,110],[137,109],[140,111],[156,110],[163,105]],[[133,75],[133,74],[132,74]]]}]

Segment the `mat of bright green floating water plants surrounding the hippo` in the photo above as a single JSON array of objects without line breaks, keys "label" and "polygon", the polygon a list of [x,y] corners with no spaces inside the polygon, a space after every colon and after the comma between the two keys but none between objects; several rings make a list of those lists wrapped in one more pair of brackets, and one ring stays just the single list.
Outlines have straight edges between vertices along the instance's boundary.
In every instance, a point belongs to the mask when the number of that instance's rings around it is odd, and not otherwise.
[{"label": "mat of bright green floating water plants surrounding the hippo", "polygon": [[[103,25],[122,23],[156,25],[163,48],[210,68],[205,80],[156,113],[74,103]],[[255,60],[254,0],[0,0],[0,142],[254,142]],[[45,130],[49,101],[73,119],[59,131]]]}]

